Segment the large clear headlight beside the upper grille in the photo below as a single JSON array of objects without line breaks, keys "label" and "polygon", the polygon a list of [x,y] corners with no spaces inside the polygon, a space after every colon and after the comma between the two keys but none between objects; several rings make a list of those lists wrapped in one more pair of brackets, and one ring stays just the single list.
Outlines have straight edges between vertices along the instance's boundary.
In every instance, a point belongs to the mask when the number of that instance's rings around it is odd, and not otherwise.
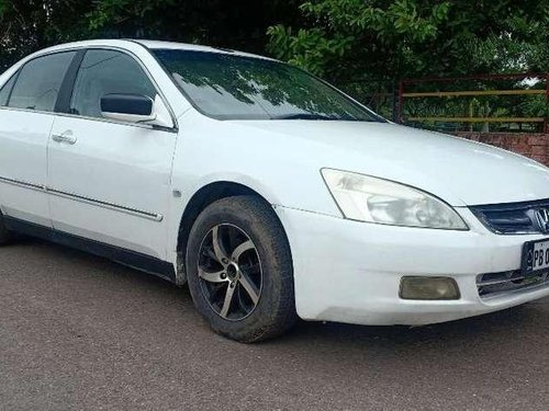
[{"label": "large clear headlight beside the upper grille", "polygon": [[392,226],[468,230],[448,204],[407,185],[347,171],[322,175],[345,218]]}]

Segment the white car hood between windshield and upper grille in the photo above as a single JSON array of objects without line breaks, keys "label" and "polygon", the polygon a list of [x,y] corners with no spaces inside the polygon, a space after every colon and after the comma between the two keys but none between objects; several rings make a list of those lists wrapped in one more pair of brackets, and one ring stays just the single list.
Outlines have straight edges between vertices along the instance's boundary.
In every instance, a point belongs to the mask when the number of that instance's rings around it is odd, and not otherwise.
[{"label": "white car hood between windshield and upper grille", "polygon": [[[525,157],[439,133],[390,123],[324,121],[232,122],[283,136],[288,156],[397,181],[452,206],[549,198],[549,169]],[[272,141],[272,138],[270,138]],[[280,146],[279,146],[280,147]]]}]

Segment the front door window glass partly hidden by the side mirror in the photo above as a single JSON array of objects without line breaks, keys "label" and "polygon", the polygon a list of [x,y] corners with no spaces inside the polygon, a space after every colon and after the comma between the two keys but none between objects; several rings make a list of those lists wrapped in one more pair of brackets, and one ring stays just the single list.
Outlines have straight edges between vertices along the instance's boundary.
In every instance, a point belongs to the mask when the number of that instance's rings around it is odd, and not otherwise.
[{"label": "front door window glass partly hidden by the side mirror", "polygon": [[105,94],[141,94],[156,98],[156,89],[131,56],[114,50],[89,50],[82,60],[70,102],[70,113],[102,117]]}]

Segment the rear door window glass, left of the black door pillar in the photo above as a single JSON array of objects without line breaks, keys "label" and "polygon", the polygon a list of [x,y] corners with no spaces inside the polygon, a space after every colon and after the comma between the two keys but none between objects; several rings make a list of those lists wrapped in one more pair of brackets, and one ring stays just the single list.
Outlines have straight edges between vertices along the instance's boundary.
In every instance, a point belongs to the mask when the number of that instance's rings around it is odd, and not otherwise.
[{"label": "rear door window glass, left of the black door pillar", "polygon": [[8,106],[53,112],[57,94],[76,52],[37,57],[22,69]]}]

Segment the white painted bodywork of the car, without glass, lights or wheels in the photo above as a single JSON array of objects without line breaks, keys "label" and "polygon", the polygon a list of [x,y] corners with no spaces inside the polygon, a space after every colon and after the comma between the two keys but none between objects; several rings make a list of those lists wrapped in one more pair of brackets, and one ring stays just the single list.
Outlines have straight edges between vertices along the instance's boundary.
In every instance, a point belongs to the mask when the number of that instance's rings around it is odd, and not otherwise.
[{"label": "white painted bodywork of the car, without glass, lights or wheels", "polygon": [[[201,46],[145,44],[224,53]],[[189,201],[210,183],[235,182],[273,205],[290,241],[296,308],[304,319],[422,324],[549,295],[546,287],[481,300],[475,276],[517,270],[523,243],[541,237],[496,236],[467,208],[549,198],[546,167],[485,145],[389,123],[212,119],[190,105],[139,44],[93,41],[47,53],[82,47],[114,47],[134,55],[164,94],[178,133],[0,110],[0,175],[18,175],[55,190],[158,214],[163,219],[145,219],[0,182],[4,213],[40,217],[63,230],[176,263],[179,222]],[[0,77],[0,84],[8,78],[9,72]],[[21,116],[20,124],[9,123],[9,116]],[[47,159],[48,126],[54,134],[70,129],[77,144],[49,140]],[[452,205],[470,230],[346,220],[322,180],[322,168],[424,190]],[[171,195],[173,190],[181,195]],[[401,300],[397,293],[403,275],[452,276],[462,298]]]}]

